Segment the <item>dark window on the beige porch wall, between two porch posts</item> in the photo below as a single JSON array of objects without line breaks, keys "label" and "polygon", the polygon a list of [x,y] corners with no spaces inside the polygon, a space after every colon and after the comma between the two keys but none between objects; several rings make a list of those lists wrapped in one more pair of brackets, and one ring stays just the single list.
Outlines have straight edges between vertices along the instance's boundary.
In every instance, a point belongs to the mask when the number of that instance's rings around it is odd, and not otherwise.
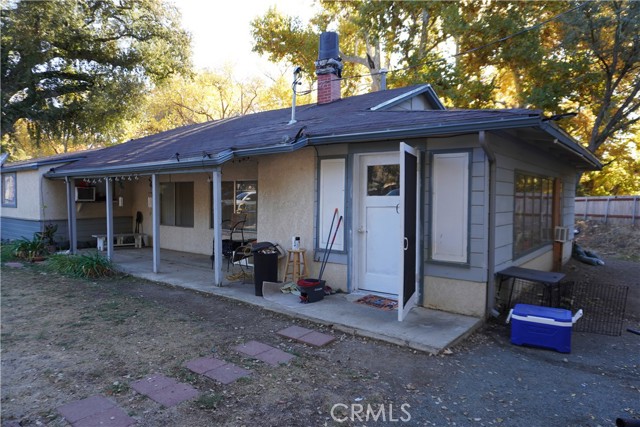
[{"label": "dark window on the beige porch wall, between two porch posts", "polygon": [[193,182],[160,183],[160,224],[193,227]]}]

